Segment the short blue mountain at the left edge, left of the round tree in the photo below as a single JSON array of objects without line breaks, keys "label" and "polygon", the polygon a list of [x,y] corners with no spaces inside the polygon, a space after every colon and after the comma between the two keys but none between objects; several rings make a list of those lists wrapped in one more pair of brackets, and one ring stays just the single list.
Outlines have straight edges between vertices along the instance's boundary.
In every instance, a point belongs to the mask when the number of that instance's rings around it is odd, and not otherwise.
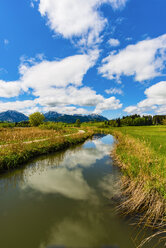
[{"label": "short blue mountain at the left edge, left of the round tree", "polygon": [[2,122],[20,122],[20,121],[27,121],[29,118],[17,111],[8,110],[5,112],[0,113],[0,121]]}]

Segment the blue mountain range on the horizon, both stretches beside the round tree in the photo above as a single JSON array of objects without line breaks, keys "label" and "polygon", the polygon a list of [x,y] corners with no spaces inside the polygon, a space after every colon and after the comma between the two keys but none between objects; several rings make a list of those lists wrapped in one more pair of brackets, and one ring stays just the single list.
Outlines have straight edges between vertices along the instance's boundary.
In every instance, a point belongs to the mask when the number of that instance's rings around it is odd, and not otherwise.
[{"label": "blue mountain range on the horizon, both stretches beside the round tree", "polygon": [[[49,111],[44,114],[45,121],[55,121],[55,122],[66,122],[66,123],[75,123],[77,119],[81,122],[89,121],[107,121],[108,119],[102,115],[91,114],[91,115],[67,115],[60,114],[54,111]],[[28,121],[28,116],[14,110],[8,110],[0,113],[1,122],[20,122]]]}]

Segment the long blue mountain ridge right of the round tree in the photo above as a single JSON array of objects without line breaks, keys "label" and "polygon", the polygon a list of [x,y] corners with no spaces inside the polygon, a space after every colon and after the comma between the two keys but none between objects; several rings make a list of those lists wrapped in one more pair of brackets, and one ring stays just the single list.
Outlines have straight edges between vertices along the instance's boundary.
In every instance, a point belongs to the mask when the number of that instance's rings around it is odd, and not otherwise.
[{"label": "long blue mountain ridge right of the round tree", "polygon": [[46,121],[55,121],[55,122],[66,122],[66,123],[74,123],[77,119],[81,122],[88,122],[88,121],[107,121],[108,119],[102,115],[66,115],[66,114],[59,114],[54,111],[49,111],[44,114]]}]

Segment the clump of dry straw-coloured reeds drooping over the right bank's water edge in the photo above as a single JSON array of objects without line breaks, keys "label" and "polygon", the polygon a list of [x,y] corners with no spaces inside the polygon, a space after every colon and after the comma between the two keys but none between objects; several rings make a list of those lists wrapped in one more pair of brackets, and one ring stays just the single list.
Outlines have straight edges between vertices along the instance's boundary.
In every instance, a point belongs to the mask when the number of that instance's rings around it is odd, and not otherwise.
[{"label": "clump of dry straw-coloured reeds drooping over the right bank's water edge", "polygon": [[157,191],[151,189],[146,191],[144,182],[132,181],[127,177],[122,179],[122,194],[125,199],[120,209],[125,214],[140,214],[140,223],[151,227],[162,226],[166,220],[166,201]]}]

